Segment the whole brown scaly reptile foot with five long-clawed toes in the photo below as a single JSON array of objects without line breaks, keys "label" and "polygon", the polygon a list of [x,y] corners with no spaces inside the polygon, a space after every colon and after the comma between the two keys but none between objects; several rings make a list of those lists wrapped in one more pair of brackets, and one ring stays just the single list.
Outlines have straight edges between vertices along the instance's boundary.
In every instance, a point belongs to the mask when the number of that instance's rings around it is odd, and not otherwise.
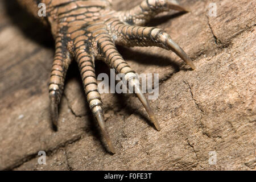
[{"label": "whole brown scaly reptile foot with five long-clawed toes", "polygon": [[148,100],[140,92],[135,71],[123,60],[115,44],[122,46],[158,46],[174,51],[177,56],[195,69],[191,59],[170,36],[156,27],[143,27],[156,14],[170,9],[185,11],[175,0],[146,0],[128,11],[114,11],[108,0],[18,0],[38,17],[38,4],[45,3],[47,16],[39,18],[51,26],[55,39],[55,56],[49,81],[49,98],[52,122],[57,127],[58,104],[64,88],[64,79],[72,60],[79,65],[82,83],[90,109],[108,143],[115,153],[105,129],[104,110],[94,71],[94,60],[105,61],[116,73],[125,74],[145,107],[156,130],[160,130]]}]

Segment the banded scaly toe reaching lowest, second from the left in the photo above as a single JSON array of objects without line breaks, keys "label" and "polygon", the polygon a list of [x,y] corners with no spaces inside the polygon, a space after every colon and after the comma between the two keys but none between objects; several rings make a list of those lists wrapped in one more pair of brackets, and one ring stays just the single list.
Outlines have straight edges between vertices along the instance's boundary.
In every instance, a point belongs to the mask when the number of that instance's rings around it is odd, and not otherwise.
[{"label": "banded scaly toe reaching lowest, second from the left", "polygon": [[102,106],[101,96],[98,92],[98,85],[96,75],[94,71],[94,57],[84,49],[76,51],[76,60],[79,64],[80,74],[82,78],[82,84],[89,104],[90,109],[94,117],[96,118],[101,132],[108,143],[110,152],[115,153],[114,146],[105,128],[104,110]]}]

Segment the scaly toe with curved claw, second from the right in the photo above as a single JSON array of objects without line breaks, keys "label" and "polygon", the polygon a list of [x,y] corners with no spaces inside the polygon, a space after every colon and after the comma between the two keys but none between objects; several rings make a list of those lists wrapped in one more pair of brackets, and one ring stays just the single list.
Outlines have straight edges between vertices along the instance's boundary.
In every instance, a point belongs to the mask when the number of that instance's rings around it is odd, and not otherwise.
[{"label": "scaly toe with curved claw, second from the right", "polygon": [[118,34],[116,44],[123,46],[157,46],[167,50],[174,51],[177,56],[185,61],[192,69],[196,69],[192,60],[183,51],[183,49],[171,39],[164,30],[155,27],[130,26],[126,24],[117,24],[115,27]]}]

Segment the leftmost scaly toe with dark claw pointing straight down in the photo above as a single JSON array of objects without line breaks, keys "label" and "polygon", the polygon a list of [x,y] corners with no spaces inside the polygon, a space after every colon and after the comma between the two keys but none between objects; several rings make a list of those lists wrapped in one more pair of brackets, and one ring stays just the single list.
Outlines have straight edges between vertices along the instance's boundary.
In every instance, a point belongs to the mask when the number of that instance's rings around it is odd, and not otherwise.
[{"label": "leftmost scaly toe with dark claw pointing straight down", "polygon": [[65,75],[70,63],[71,55],[61,42],[61,38],[57,38],[55,43],[55,56],[49,81],[49,98],[51,102],[50,113],[55,129],[57,129],[58,105],[63,93]]}]

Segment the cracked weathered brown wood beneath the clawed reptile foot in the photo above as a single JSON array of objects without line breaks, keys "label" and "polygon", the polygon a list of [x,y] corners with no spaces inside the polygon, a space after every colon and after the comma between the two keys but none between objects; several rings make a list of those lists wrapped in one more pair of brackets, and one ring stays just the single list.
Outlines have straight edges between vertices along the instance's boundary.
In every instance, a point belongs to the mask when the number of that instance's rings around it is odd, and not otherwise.
[{"label": "cracked weathered brown wood beneath the clawed reptile foot", "polygon": [[[162,13],[147,25],[170,34],[197,69],[161,48],[118,47],[136,72],[159,73],[159,98],[150,104],[162,130],[152,129],[134,96],[102,94],[116,147],[111,155],[76,64],[67,72],[59,129],[52,130],[47,84],[54,42],[14,1],[1,1],[0,168],[255,169],[255,2],[180,2],[191,11]],[[138,4],[113,1],[115,10]],[[109,72],[102,61],[95,67],[96,75]],[[38,164],[40,150],[46,165]]]}]

